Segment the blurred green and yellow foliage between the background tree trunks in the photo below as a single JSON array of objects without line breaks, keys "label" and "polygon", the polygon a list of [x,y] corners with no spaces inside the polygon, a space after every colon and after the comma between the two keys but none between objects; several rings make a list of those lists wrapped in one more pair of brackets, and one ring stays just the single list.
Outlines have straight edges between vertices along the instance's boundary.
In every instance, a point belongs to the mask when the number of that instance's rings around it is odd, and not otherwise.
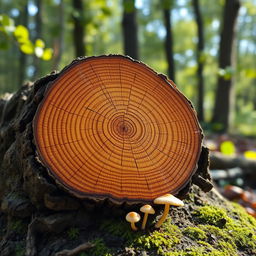
[{"label": "blurred green and yellow foliage between the background tree trunks", "polygon": [[[125,1],[126,9],[137,9],[139,26],[139,51],[143,62],[160,73],[166,73],[167,62],[164,52],[165,27],[163,21],[163,8],[171,8],[172,33],[174,41],[174,58],[176,67],[176,81],[178,88],[197,106],[197,79],[196,46],[197,27],[194,20],[191,1]],[[205,116],[206,129],[221,130],[221,124],[211,124],[212,110],[215,101],[216,83],[219,76],[224,79],[233,79],[235,87],[235,109],[233,112],[232,133],[255,135],[256,122],[256,62],[255,62],[255,33],[256,22],[255,0],[243,0],[237,22],[236,67],[219,69],[218,49],[221,28],[221,16],[224,0],[211,2],[200,1],[200,9],[204,22],[205,50],[200,54],[200,61],[204,63],[205,80]],[[15,91],[20,82],[13,76],[22,69],[20,63],[20,49],[28,55],[26,65],[26,79],[35,79],[35,56],[39,60],[49,60],[40,63],[38,76],[49,73],[58,59],[60,48],[62,54],[59,68],[66,66],[75,57],[73,45],[73,15],[75,13],[70,1],[43,1],[42,38],[50,47],[42,44],[37,34],[35,15],[37,6],[34,1],[29,1],[28,25],[20,24],[22,20],[25,1],[4,1],[1,5],[0,17],[0,93]],[[63,9],[61,9],[63,4]],[[85,48],[87,55],[100,55],[109,53],[123,53],[122,42],[122,13],[123,1],[96,0],[86,1],[85,13],[82,15],[85,26]],[[63,13],[60,12],[63,10]],[[62,24],[63,23],[63,24]],[[62,30],[62,28],[65,28]],[[29,30],[29,33],[28,33]],[[62,46],[57,41],[62,38]],[[17,47],[18,46],[18,47]],[[53,50],[52,50],[53,49]],[[6,64],[6,60],[9,63]],[[58,66],[58,65],[57,65]],[[8,71],[9,70],[9,71]],[[11,71],[12,72],[11,72]]]}]

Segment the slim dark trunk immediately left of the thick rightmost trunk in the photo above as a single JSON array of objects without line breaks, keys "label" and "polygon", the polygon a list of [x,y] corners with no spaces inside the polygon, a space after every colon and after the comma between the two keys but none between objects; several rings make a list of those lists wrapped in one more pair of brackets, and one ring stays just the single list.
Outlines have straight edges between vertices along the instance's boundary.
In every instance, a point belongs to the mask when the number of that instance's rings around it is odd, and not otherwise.
[{"label": "slim dark trunk immediately left of the thick rightmost trunk", "polygon": [[197,77],[198,77],[198,105],[197,114],[199,121],[204,121],[204,60],[202,54],[204,52],[204,24],[202,21],[199,0],[193,0],[195,19],[197,24]]}]

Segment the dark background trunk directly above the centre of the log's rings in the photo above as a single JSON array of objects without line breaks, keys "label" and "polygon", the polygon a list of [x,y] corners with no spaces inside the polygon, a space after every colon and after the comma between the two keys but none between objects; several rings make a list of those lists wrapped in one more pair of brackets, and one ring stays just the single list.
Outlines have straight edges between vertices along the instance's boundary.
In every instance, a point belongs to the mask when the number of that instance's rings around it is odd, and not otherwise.
[{"label": "dark background trunk directly above the centre of the log's rings", "polygon": [[123,0],[122,26],[125,54],[139,59],[135,0]]}]

